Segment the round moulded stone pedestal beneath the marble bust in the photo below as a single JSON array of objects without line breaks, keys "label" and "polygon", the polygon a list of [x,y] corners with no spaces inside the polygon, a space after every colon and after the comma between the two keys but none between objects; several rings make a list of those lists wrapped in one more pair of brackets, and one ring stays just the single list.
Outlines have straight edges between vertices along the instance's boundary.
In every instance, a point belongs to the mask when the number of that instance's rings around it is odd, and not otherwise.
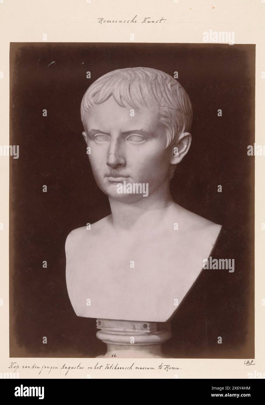
[{"label": "round moulded stone pedestal beneath the marble bust", "polygon": [[171,338],[170,322],[97,319],[96,337],[107,344],[98,357],[163,358],[161,344]]}]

